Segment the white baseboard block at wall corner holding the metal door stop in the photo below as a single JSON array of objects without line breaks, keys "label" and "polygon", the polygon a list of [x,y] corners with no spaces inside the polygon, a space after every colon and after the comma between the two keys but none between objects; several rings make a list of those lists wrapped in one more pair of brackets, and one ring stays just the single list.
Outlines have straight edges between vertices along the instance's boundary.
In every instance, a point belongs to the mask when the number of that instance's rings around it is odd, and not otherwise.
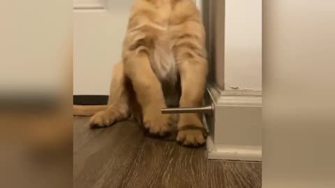
[{"label": "white baseboard block at wall corner holding the metal door stop", "polygon": [[262,95],[227,95],[214,87],[208,93],[215,109],[206,117],[209,159],[262,161]]}]

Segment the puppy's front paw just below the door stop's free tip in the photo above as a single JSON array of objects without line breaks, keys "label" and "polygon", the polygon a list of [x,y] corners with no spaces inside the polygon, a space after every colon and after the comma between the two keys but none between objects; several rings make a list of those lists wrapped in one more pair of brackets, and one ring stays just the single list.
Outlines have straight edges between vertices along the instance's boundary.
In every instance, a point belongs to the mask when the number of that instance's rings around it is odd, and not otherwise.
[{"label": "puppy's front paw just below the door stop's free tip", "polygon": [[150,134],[165,136],[172,130],[173,122],[168,115],[157,114],[144,118],[144,127]]}]

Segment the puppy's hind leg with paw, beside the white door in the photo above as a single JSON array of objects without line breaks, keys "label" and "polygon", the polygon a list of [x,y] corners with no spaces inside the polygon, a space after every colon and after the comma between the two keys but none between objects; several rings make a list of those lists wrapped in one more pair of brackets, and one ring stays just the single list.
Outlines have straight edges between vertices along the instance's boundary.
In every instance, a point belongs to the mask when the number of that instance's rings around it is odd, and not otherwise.
[{"label": "puppy's hind leg with paw, beside the white door", "polygon": [[128,91],[125,84],[124,65],[118,63],[113,69],[108,107],[91,117],[91,127],[107,127],[128,118]]}]

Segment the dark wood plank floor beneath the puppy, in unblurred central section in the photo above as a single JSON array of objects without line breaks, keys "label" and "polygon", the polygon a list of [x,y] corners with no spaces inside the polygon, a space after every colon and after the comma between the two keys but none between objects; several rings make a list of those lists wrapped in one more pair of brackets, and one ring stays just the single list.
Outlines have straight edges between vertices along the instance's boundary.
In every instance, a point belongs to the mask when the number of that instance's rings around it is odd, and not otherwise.
[{"label": "dark wood plank floor beneath the puppy, in unblurred central section", "polygon": [[74,187],[262,187],[261,163],[211,161],[133,122],[90,130],[88,120],[74,117]]}]

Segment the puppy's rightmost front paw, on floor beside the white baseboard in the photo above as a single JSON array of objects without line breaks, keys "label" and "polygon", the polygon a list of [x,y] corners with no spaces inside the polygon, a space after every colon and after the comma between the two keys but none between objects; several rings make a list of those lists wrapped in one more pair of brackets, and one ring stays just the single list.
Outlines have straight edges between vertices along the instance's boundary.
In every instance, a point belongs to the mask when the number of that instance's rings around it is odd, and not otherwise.
[{"label": "puppy's rightmost front paw, on floor beside the white baseboard", "polygon": [[206,142],[206,134],[202,128],[179,130],[177,141],[184,146],[202,146]]}]

